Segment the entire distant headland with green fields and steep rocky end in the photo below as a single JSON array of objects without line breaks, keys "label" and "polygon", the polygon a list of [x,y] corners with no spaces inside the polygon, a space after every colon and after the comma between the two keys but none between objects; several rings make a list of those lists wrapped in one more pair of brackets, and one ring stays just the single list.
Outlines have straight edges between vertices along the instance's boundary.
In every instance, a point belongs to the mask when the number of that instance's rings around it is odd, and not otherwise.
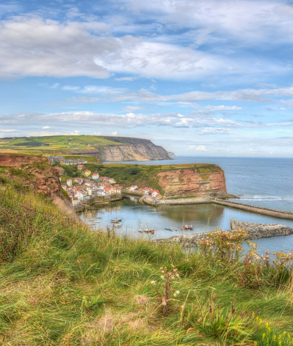
[{"label": "entire distant headland with green fields and steep rocky end", "polygon": [[88,135],[20,137],[6,140],[1,144],[10,148],[17,147],[18,152],[25,154],[34,152],[46,156],[89,155],[104,162],[172,160],[163,147],[142,138]]}]

